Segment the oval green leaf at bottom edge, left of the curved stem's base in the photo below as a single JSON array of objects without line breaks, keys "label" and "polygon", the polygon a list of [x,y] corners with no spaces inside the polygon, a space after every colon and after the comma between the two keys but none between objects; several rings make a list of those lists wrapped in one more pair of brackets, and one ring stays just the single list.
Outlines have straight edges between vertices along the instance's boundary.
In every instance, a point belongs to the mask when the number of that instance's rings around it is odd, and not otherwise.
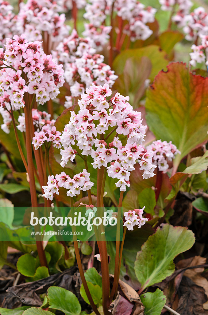
[{"label": "oval green leaf at bottom edge, left of the curved stem's base", "polygon": [[81,305],[74,293],[60,287],[48,288],[48,298],[51,308],[64,312],[66,315],[79,315]]}]

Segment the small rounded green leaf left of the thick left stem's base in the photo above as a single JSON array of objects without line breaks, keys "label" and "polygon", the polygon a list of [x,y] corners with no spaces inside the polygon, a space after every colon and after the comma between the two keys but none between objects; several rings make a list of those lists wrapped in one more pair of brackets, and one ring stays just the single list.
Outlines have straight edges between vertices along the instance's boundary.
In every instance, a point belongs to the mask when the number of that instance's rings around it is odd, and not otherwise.
[{"label": "small rounded green leaf left of the thick left stem's base", "polygon": [[30,254],[19,257],[17,261],[18,271],[26,277],[33,277],[36,273],[36,258]]}]

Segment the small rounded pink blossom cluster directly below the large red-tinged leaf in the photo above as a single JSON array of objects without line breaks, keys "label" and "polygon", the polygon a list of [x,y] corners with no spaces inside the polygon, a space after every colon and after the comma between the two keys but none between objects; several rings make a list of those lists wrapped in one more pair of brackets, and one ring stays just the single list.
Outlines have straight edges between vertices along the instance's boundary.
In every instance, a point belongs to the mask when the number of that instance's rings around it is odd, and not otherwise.
[{"label": "small rounded pink blossom cluster directly below the large red-tinged leaf", "polygon": [[158,166],[159,171],[166,172],[169,169],[168,162],[172,162],[176,154],[181,152],[177,147],[172,144],[172,141],[153,141],[150,146],[146,147],[147,150],[153,152],[153,164]]}]

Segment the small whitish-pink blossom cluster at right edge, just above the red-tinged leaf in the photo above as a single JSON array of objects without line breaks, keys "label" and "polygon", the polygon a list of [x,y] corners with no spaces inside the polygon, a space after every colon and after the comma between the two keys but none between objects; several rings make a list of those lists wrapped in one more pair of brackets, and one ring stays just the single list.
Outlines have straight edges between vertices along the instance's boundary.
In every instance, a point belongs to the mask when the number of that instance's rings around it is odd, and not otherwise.
[{"label": "small whitish-pink blossom cluster at right edge, just above the red-tinged leaf", "polygon": [[[191,49],[193,52],[190,53],[191,60],[189,61],[190,65],[196,66],[196,63],[202,63],[206,60],[206,53],[208,48],[208,36],[200,35],[201,37],[201,45],[196,46],[192,45]],[[205,65],[208,66],[208,61],[205,62]]]}]

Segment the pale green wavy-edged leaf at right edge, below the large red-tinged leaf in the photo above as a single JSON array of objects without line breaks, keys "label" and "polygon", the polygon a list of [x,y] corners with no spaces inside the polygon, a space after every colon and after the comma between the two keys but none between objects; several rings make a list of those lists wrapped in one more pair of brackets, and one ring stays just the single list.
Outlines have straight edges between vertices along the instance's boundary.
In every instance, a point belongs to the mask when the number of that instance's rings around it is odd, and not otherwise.
[{"label": "pale green wavy-edged leaf at right edge, below the large red-tinged leaf", "polygon": [[184,169],[185,174],[200,174],[208,167],[208,151],[202,157],[193,157],[191,159],[191,165]]}]

